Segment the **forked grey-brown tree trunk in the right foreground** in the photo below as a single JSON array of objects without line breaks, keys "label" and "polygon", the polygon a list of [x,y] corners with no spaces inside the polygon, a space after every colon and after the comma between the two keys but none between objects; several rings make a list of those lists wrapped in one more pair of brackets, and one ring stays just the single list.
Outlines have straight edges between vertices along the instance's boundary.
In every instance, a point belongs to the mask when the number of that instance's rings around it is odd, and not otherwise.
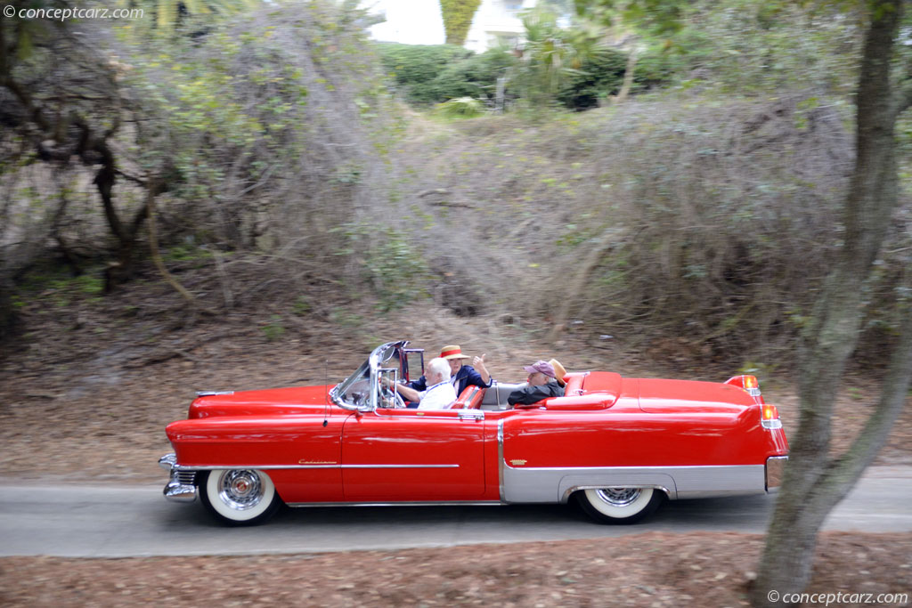
[{"label": "forked grey-brown tree trunk in the right foreground", "polygon": [[802,336],[800,423],[760,576],[751,589],[755,606],[782,605],[782,597],[803,591],[811,576],[817,532],[874,459],[906,399],[912,369],[908,318],[875,415],[845,455],[830,456],[834,401],[857,344],[864,283],[897,202],[894,126],[902,107],[892,95],[890,58],[902,8],[902,0],[870,5],[856,98],[855,172],[845,201],[845,244]]}]

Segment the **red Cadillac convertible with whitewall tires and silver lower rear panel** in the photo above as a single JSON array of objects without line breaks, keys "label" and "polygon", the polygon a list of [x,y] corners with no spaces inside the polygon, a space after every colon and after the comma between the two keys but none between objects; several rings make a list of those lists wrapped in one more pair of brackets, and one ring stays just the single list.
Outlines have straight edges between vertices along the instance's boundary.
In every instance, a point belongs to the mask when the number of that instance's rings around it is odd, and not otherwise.
[{"label": "red Cadillac convertible with whitewall tires and silver lower rear panel", "polygon": [[[393,382],[423,368],[378,346],[336,386],[202,393],[167,428],[169,500],[229,525],[292,507],[578,501],[632,522],[666,498],[778,488],[788,444],[753,376],[725,383],[570,373],[565,397],[510,407],[523,384],[469,386],[450,409],[404,407]],[[413,376],[418,376],[414,374]]]}]

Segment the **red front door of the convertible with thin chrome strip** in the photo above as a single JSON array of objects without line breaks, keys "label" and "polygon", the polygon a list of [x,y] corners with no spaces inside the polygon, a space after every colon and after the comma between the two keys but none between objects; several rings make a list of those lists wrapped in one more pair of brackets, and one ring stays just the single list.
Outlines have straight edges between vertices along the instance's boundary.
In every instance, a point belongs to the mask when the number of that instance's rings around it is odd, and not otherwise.
[{"label": "red front door of the convertible with thin chrome strip", "polygon": [[342,432],[347,501],[479,500],[484,492],[480,410],[377,409]]}]

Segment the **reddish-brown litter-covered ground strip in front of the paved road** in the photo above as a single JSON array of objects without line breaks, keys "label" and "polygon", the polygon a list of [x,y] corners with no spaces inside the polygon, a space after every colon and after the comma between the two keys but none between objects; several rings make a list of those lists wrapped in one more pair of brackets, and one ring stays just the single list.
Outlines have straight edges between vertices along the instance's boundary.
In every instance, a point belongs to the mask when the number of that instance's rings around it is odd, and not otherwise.
[{"label": "reddish-brown litter-covered ground strip in front of the paved road", "polygon": [[[5,558],[0,604],[739,606],[761,551],[759,535],[649,532],[316,555]],[[833,594],[831,606],[912,605],[912,534],[823,534],[806,593]]]}]

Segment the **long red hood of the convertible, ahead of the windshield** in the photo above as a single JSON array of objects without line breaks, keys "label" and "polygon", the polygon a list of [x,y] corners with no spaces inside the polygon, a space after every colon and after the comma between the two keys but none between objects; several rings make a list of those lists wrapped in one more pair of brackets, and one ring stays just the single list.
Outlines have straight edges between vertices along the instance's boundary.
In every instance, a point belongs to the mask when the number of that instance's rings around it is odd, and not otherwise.
[{"label": "long red hood of the convertible, ahead of the windshield", "polygon": [[203,395],[193,401],[188,417],[306,414],[314,411],[315,407],[332,404],[329,399],[332,387],[289,386]]}]

